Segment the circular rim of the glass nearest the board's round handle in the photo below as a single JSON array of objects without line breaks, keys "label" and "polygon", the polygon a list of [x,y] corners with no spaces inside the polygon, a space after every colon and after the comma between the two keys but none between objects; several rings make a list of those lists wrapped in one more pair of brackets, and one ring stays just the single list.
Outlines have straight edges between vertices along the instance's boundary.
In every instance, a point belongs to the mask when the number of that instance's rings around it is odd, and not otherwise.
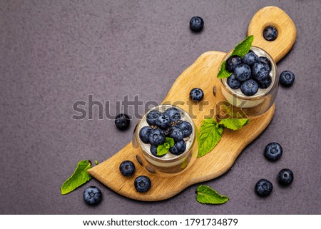
[{"label": "circular rim of the glass nearest the board's round handle", "polygon": [[[274,68],[274,70],[275,70],[274,82],[271,83],[271,85],[270,85],[268,88],[265,89],[264,93],[262,93],[262,94],[257,94],[257,95],[254,95],[254,96],[245,96],[244,94],[236,93],[232,88],[230,88],[230,86],[228,86],[227,78],[221,78],[221,79],[220,79],[220,82],[223,84],[223,86],[225,86],[225,88],[226,88],[233,96],[236,96],[236,97],[242,98],[242,99],[246,99],[246,100],[258,100],[258,99],[260,99],[260,98],[263,98],[263,97],[267,96],[267,94],[270,93],[270,91],[272,91],[272,89],[275,88],[275,86],[277,86],[277,83],[278,83],[278,81],[277,81],[277,78],[278,78],[278,76],[277,76],[277,65],[276,65],[274,59],[272,58],[272,56],[271,56],[267,51],[265,51],[264,49],[262,49],[262,48],[260,48],[260,47],[258,47],[258,46],[251,46],[250,49],[252,49],[252,48],[254,48],[254,49],[259,49],[259,50],[263,51],[263,52],[266,54],[266,56],[270,59],[271,64],[272,64],[272,66],[273,66],[273,68]],[[222,60],[221,63],[220,63],[220,66],[222,65],[223,61],[226,61],[226,60],[230,57],[230,55],[233,53],[233,50],[234,50],[234,49],[230,50],[230,51],[225,55],[225,57],[223,58],[223,60]]]}]

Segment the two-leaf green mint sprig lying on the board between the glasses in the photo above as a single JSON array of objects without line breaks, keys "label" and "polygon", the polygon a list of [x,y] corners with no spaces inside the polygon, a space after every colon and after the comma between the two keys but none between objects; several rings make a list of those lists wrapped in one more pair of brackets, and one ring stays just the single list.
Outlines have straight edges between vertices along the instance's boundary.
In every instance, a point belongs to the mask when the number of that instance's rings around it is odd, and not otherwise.
[{"label": "two-leaf green mint sprig lying on the board between the glasses", "polygon": [[213,148],[220,142],[224,128],[233,131],[239,130],[248,124],[248,118],[227,118],[219,123],[214,118],[206,118],[200,126],[200,143],[198,146],[198,158],[210,153]]}]

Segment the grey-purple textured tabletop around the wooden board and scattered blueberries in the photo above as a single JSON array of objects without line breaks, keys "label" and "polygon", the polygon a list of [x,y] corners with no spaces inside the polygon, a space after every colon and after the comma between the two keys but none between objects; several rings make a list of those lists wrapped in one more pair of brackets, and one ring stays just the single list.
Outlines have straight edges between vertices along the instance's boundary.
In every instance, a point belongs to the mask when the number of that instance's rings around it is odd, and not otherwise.
[{"label": "grey-purple textured tabletop around the wooden board and scattered blueberries", "polygon": [[[97,180],[68,195],[63,181],[78,161],[102,162],[129,141],[113,120],[75,121],[73,102],[115,101],[139,94],[161,102],[180,73],[205,51],[229,51],[245,38],[252,16],[263,6],[280,6],[297,26],[292,51],[279,71],[295,73],[291,88],[280,88],[275,116],[225,175],[210,185],[230,200],[201,205],[198,184],[174,198],[144,203],[124,198]],[[1,214],[320,214],[320,14],[321,1],[0,1],[0,195]],[[188,22],[202,16],[193,34]],[[132,110],[130,111],[131,114]],[[263,149],[282,144],[280,161]],[[290,168],[288,188],[276,175]],[[274,184],[258,198],[256,181]],[[82,200],[97,185],[103,202]]]}]

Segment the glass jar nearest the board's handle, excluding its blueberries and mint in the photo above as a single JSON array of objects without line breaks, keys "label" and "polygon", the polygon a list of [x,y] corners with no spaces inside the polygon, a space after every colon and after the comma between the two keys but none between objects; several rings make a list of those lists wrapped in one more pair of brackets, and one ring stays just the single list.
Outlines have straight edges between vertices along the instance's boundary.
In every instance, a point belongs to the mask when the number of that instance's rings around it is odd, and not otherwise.
[{"label": "glass jar nearest the board's handle, excluding its blueberries and mint", "polygon": [[[246,116],[260,116],[265,113],[275,102],[277,96],[277,89],[279,85],[279,76],[277,75],[277,66],[270,54],[267,54],[266,51],[260,49],[256,46],[251,46],[252,50],[256,55],[265,56],[271,62],[271,71],[270,76],[272,78],[272,83],[268,88],[259,88],[258,92],[254,96],[245,96],[240,88],[233,89],[228,86],[227,78],[222,78],[221,89],[224,98],[230,105],[234,112],[243,113]],[[223,61],[226,61],[232,54],[233,50],[226,54]],[[222,62],[223,62],[222,61]],[[245,117],[243,117],[245,118]]]}]

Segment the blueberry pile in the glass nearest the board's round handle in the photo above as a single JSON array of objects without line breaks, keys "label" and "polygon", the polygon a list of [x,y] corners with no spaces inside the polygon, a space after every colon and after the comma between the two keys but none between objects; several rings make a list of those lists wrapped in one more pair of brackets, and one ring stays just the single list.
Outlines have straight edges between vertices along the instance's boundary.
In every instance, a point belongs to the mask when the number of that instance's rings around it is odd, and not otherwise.
[{"label": "blueberry pile in the glass nearest the board's round handle", "polygon": [[232,73],[228,77],[228,86],[240,88],[245,96],[254,96],[259,88],[268,88],[272,83],[270,71],[272,63],[265,56],[258,56],[252,50],[240,56],[230,56],[226,60],[225,69]]}]

